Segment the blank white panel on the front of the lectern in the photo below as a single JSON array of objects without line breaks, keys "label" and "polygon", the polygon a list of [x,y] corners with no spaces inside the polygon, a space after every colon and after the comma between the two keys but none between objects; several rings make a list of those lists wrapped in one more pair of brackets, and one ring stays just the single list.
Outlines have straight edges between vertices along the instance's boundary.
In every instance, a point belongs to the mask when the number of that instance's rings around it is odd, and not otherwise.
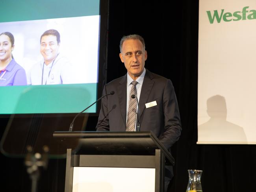
[{"label": "blank white panel on the front of the lectern", "polygon": [[74,167],[72,192],[154,192],[154,168]]}]

